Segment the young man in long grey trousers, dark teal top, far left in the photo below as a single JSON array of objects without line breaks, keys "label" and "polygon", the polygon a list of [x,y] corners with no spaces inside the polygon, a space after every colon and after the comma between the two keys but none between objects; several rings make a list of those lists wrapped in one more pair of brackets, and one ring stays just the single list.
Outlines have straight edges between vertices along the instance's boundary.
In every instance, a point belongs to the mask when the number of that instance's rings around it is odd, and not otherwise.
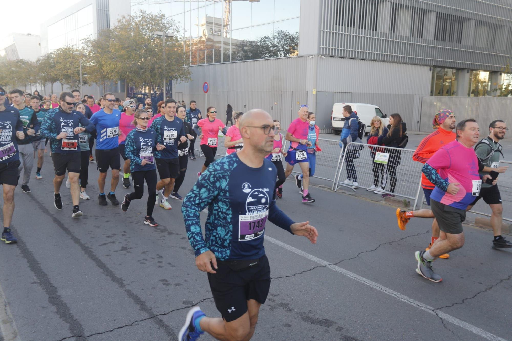
[{"label": "young man in long grey trousers, dark teal top, far left", "polygon": [[23,91],[16,89],[12,90],[10,94],[14,108],[19,111],[19,117],[23,122],[23,132],[25,133],[25,138],[18,141],[19,161],[21,162],[18,176],[22,175],[23,170],[22,190],[23,193],[30,193],[29,181],[32,168],[34,167],[34,146],[32,141],[35,134],[39,133],[40,124],[34,110],[25,104]]}]

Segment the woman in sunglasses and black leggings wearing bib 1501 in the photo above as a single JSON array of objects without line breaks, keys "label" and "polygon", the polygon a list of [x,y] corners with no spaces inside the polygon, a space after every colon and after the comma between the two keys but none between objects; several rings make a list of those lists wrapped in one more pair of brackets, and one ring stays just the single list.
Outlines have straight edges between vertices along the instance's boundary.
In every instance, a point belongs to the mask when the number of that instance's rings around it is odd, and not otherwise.
[{"label": "woman in sunglasses and black leggings wearing bib 1501", "polygon": [[156,194],[157,172],[155,168],[154,154],[161,151],[165,146],[156,142],[157,134],[153,129],[147,127],[150,117],[144,109],[135,112],[133,124],[136,125],[126,136],[124,153],[131,160],[130,167],[134,189],[130,194],[124,196],[121,209],[126,212],[134,199],[141,199],[144,195],[144,180],[147,184],[147,210],[144,224],[158,226],[153,219],[153,199]]}]

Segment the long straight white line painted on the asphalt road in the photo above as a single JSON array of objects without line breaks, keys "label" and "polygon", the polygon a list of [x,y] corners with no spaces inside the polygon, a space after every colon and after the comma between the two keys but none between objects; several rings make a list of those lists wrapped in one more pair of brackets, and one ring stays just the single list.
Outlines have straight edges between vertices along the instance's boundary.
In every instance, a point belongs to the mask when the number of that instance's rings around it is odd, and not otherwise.
[{"label": "long straight white line painted on the asphalt road", "polygon": [[449,314],[443,313],[442,311],[439,311],[439,310],[437,310],[435,308],[432,308],[432,307],[429,307],[428,305],[425,305],[425,304],[423,304],[421,302],[413,300],[410,297],[407,297],[406,295],[402,295],[401,293],[398,293],[398,292],[396,292],[394,290],[386,288],[386,287],[384,287],[384,286],[382,286],[382,285],[380,285],[378,283],[375,283],[375,282],[372,282],[370,280],[367,280],[366,278],[361,277],[361,276],[359,276],[359,275],[357,275],[357,274],[355,274],[353,272],[350,272],[348,270],[345,270],[344,268],[340,268],[339,266],[332,265],[331,263],[329,263],[327,261],[324,261],[323,259],[319,259],[319,258],[315,257],[312,254],[309,254],[307,252],[304,252],[302,250],[294,248],[293,246],[290,246],[290,245],[288,245],[286,243],[283,243],[283,242],[281,242],[281,241],[279,241],[277,239],[274,239],[272,237],[268,237],[267,235],[265,235],[265,240],[267,240],[270,243],[273,243],[275,245],[279,245],[279,246],[281,246],[281,247],[283,247],[283,248],[285,248],[285,249],[287,249],[287,250],[289,250],[289,251],[291,251],[293,253],[296,253],[298,255],[302,255],[302,257],[305,257],[305,258],[309,259],[310,261],[313,261],[313,262],[318,263],[320,265],[323,265],[323,266],[325,266],[325,267],[327,267],[327,268],[329,268],[331,270],[334,270],[336,272],[344,274],[347,277],[349,277],[349,278],[351,278],[353,280],[356,280],[356,281],[358,281],[358,282],[360,282],[362,284],[366,284],[366,285],[368,285],[368,286],[370,286],[370,287],[372,287],[374,289],[377,289],[377,290],[379,290],[379,291],[381,291],[383,293],[386,293],[386,294],[388,294],[390,296],[393,296],[393,297],[395,297],[395,299],[398,299],[398,300],[400,300],[402,302],[410,304],[413,307],[419,308],[419,309],[421,309],[423,311],[426,311],[426,312],[429,312],[429,313],[431,313],[433,315],[436,315],[436,316],[444,319],[447,322],[453,323],[456,326],[459,326],[459,327],[464,328],[464,329],[466,329],[468,331],[471,331],[471,332],[473,332],[473,333],[475,333],[475,334],[477,334],[477,335],[479,335],[481,337],[484,337],[484,338],[486,338],[488,340],[492,340],[492,341],[506,341],[505,339],[503,339],[503,338],[501,338],[499,336],[496,336],[494,334],[486,332],[483,329],[475,327],[475,326],[473,326],[471,324],[468,324],[467,322],[464,322],[464,321],[462,321],[462,320],[460,320],[458,318],[455,318],[455,317],[453,317],[453,316],[451,316]]}]

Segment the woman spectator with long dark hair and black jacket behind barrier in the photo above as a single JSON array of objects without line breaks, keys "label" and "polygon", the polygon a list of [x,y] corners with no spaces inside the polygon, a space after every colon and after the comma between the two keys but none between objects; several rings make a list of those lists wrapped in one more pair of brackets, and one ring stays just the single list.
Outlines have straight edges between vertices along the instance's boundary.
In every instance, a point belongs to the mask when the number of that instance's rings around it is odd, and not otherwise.
[{"label": "woman spectator with long dark hair and black jacket behind barrier", "polygon": [[[389,118],[390,126],[388,126],[389,132],[386,135],[383,135],[378,138],[378,144],[383,144],[387,147],[395,147],[398,148],[404,138],[404,134],[407,131],[406,123],[402,122],[402,117],[400,114],[391,114]],[[401,151],[397,149],[392,149],[389,152],[389,159],[386,169],[389,174],[389,182],[391,193],[395,193],[396,188],[396,167],[400,165],[401,161]],[[383,194],[382,198],[386,197],[395,197],[394,194]]]}]

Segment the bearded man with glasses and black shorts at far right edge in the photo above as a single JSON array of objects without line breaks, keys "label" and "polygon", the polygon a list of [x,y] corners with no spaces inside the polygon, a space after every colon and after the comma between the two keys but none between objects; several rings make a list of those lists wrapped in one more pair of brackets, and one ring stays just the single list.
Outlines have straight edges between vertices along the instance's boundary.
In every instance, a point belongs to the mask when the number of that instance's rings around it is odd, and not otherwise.
[{"label": "bearded man with glasses and black shorts at far right edge", "polygon": [[[483,165],[483,170],[480,172],[481,176],[487,175],[489,172],[505,173],[508,166],[500,167],[500,154],[501,144],[500,141],[505,137],[508,131],[507,125],[502,120],[495,120],[489,124],[489,136],[481,140],[475,146],[475,153],[477,154],[478,161]],[[512,243],[507,241],[501,236],[501,224],[503,205],[501,204],[501,195],[498,185],[489,185],[482,183],[480,195],[466,208],[466,211],[475,206],[478,200],[483,198],[483,201],[489,205],[492,213],[490,214],[490,225],[493,228],[494,239],[493,249],[506,249],[512,247]]]}]

